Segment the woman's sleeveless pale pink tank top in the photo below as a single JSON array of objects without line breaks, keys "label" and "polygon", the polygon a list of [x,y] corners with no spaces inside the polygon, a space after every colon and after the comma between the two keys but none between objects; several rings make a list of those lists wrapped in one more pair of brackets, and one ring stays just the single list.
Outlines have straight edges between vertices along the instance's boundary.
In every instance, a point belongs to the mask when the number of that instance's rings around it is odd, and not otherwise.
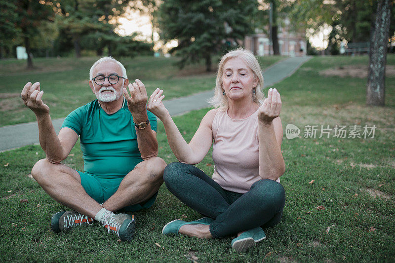
[{"label": "woman's sleeveless pale pink tank top", "polygon": [[258,111],[245,119],[231,119],[228,111],[218,111],[213,120],[212,131],[213,180],[229,191],[249,191],[253,183],[261,180]]}]

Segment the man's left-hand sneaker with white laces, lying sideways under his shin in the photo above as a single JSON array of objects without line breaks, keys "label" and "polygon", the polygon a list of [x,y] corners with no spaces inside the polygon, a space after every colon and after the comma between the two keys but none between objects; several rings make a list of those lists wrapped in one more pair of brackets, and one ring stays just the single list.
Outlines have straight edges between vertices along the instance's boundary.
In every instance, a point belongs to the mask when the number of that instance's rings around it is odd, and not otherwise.
[{"label": "man's left-hand sneaker with white laces, lying sideways under his shin", "polygon": [[82,215],[76,211],[60,211],[52,216],[51,229],[55,233],[71,230],[77,225],[92,225],[93,218]]}]

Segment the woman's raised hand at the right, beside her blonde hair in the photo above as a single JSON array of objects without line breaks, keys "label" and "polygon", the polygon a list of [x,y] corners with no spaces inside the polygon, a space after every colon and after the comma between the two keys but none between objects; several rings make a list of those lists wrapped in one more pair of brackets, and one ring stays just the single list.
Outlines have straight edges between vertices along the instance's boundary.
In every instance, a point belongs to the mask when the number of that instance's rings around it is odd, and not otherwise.
[{"label": "woman's raised hand at the right, beside her blonde hair", "polygon": [[276,89],[269,89],[268,97],[258,111],[258,119],[264,124],[271,124],[273,119],[280,115],[281,97]]}]

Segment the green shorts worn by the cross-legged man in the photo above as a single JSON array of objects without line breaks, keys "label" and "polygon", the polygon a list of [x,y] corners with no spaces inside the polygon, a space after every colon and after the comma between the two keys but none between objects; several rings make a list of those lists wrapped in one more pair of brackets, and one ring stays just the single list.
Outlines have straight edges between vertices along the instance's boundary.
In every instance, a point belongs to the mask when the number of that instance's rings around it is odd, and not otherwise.
[{"label": "green shorts worn by the cross-legged man", "polygon": [[[100,176],[94,176],[87,173],[77,171],[81,177],[81,185],[85,189],[86,193],[92,197],[99,204],[105,202],[110,198],[117,190],[123,177],[118,178],[101,178]],[[150,208],[157,199],[158,192],[156,192],[150,199],[122,208],[126,212],[136,212],[141,209]]]}]

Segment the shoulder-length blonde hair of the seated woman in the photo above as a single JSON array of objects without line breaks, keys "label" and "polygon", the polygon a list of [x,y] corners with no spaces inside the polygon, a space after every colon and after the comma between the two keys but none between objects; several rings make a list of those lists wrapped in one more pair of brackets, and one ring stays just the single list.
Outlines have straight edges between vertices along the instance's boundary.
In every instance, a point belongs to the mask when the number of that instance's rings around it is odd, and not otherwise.
[{"label": "shoulder-length blonde hair of the seated woman", "polygon": [[262,70],[254,54],[252,54],[252,52],[249,50],[243,49],[242,47],[232,50],[222,56],[221,61],[218,64],[217,81],[215,84],[214,96],[210,98],[207,102],[212,104],[215,108],[220,108],[220,110],[226,110],[229,108],[228,97],[222,94],[222,75],[224,73],[223,71],[225,63],[233,58],[242,59],[244,63],[254,73],[254,77],[258,78],[258,84],[255,87],[255,93],[252,93],[252,100],[253,102],[261,105],[263,103],[263,99],[265,98],[265,95],[262,92]]}]

